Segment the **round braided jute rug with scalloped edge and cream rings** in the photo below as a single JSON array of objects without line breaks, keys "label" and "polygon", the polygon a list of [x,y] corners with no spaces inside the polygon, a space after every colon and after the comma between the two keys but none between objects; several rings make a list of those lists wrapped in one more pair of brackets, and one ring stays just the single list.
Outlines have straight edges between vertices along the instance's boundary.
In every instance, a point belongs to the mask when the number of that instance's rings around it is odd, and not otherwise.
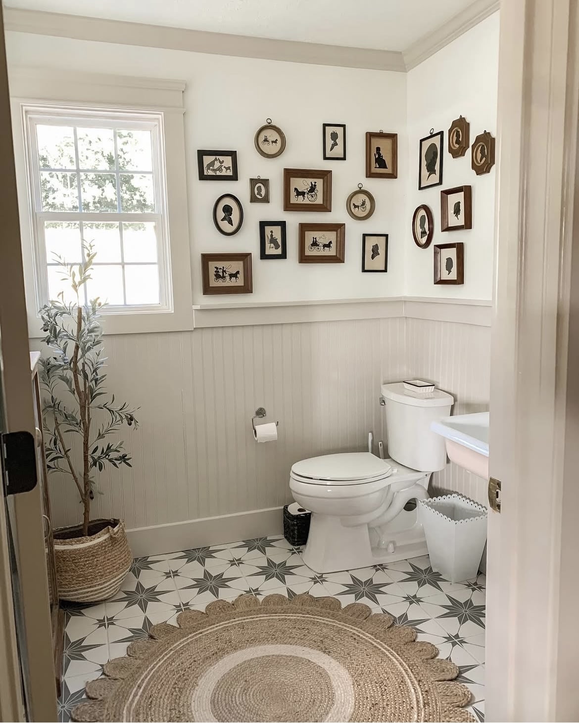
[{"label": "round braided jute rug with scalloped edge and cream rings", "polygon": [[474,721],[454,663],[332,597],[216,600],[161,623],[86,686],[77,721]]}]

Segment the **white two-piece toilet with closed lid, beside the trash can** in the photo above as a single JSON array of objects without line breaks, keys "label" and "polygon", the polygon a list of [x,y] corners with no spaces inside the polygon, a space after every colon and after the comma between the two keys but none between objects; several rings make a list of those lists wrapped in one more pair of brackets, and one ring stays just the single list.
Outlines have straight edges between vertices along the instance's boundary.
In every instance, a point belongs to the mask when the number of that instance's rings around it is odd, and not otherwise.
[{"label": "white two-piece toilet with closed lid, beside the trash can", "polygon": [[389,459],[369,452],[329,454],[296,462],[290,471],[295,501],[312,513],[303,560],[318,573],[428,552],[410,500],[428,497],[432,472],[447,463],[444,438],[430,425],[449,416],[454,399],[441,390],[409,394],[402,382],[381,391]]}]

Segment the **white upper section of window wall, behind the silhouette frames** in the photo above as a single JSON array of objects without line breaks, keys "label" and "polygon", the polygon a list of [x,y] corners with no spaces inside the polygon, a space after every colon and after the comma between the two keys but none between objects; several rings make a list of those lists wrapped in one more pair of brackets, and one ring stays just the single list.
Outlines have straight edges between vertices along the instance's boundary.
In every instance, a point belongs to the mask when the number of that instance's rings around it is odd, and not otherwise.
[{"label": "white upper section of window wall, behind the silhouette frames", "polygon": [[[404,73],[306,65],[160,48],[93,43],[7,33],[9,64],[185,80],[185,143],[195,304],[231,304],[231,296],[203,296],[202,252],[252,252],[253,294],[238,302],[300,301],[400,296],[407,187],[406,76]],[[74,59],[73,66],[71,59]],[[253,145],[271,118],[287,138],[278,158],[263,158]],[[324,161],[322,123],[345,123],[347,161]],[[365,179],[365,132],[399,134],[399,177]],[[239,181],[199,181],[198,148],[237,150]],[[284,168],[330,168],[331,213],[283,211]],[[269,204],[249,202],[249,179],[270,179]],[[363,183],[376,198],[367,221],[347,214],[348,194]],[[245,220],[228,238],[214,227],[212,210],[223,193],[241,200]],[[287,260],[259,259],[259,221],[287,221]],[[345,264],[297,263],[299,223],[344,222]],[[362,273],[362,234],[389,234],[388,273]],[[280,283],[283,281],[283,283]]]}]

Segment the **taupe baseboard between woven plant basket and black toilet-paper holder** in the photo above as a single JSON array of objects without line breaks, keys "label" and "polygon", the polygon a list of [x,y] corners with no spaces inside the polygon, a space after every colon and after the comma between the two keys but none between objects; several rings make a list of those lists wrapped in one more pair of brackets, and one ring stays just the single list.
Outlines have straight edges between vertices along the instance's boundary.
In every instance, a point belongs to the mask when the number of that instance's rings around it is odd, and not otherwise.
[{"label": "taupe baseboard between woven plant basket and black toilet-paper holder", "polygon": [[237,542],[252,537],[279,535],[283,532],[282,508],[252,510],[234,515],[205,517],[127,530],[132,554],[164,555],[182,549]]}]

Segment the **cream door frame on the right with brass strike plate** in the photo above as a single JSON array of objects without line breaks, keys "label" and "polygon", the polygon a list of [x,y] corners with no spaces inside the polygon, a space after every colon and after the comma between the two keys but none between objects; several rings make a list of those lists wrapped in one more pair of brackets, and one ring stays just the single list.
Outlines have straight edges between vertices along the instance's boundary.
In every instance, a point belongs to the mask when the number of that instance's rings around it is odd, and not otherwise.
[{"label": "cream door frame on the right with brass strike plate", "polygon": [[[577,342],[570,299],[579,292],[578,40],[577,0],[501,4],[489,463],[502,482],[502,509],[489,513],[489,721],[579,719],[576,623],[565,589],[577,586],[576,571],[566,573],[579,542],[570,466],[579,437],[565,444],[578,403],[567,385]],[[570,361],[577,375],[578,357]]]}]

